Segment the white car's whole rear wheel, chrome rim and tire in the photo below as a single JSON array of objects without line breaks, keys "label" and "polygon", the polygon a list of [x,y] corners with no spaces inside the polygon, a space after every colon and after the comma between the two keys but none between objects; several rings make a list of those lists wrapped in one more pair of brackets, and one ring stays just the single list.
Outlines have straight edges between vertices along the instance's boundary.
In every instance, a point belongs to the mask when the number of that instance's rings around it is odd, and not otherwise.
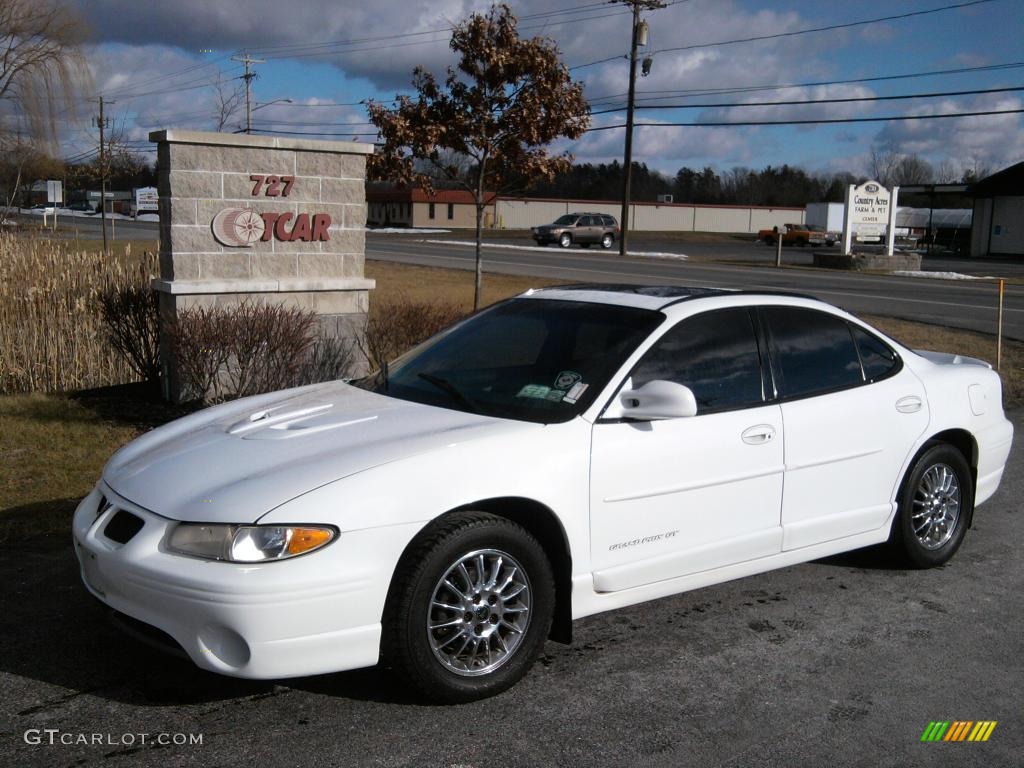
[{"label": "white car's whole rear wheel, chrome rim and tire", "polygon": [[893,525],[897,553],[918,568],[947,562],[959,549],[974,507],[967,460],[952,445],[934,443],[903,480]]}]

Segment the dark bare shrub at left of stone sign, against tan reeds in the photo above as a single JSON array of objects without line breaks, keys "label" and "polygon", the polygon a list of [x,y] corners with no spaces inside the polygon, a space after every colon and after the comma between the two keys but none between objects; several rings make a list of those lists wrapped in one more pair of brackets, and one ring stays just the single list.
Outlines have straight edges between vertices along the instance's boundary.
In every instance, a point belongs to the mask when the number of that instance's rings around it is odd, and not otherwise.
[{"label": "dark bare shrub at left of stone sign, against tan reeds", "polygon": [[99,311],[114,348],[142,381],[160,379],[157,292],[145,285],[111,287],[99,295]]}]

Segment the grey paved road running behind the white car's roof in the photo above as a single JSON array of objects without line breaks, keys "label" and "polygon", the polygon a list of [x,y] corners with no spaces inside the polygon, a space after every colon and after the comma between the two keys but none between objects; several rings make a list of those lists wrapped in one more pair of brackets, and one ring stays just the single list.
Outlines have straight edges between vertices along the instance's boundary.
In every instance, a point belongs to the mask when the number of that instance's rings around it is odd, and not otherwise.
[{"label": "grey paved road running behind the white car's roof", "polygon": [[[471,247],[424,242],[429,237],[370,234],[367,238],[367,258],[472,268]],[[763,246],[748,243],[729,248],[745,249],[752,254],[765,250]],[[617,254],[582,249],[531,251],[490,246],[484,248],[484,259],[485,270],[566,282],[669,283],[798,291],[813,294],[853,312],[888,314],[995,332],[996,289],[992,283],[983,281],[869,275],[823,269],[774,269],[659,258],[623,259]],[[1007,286],[1004,331],[1008,337],[1024,339],[1024,286]]]}]

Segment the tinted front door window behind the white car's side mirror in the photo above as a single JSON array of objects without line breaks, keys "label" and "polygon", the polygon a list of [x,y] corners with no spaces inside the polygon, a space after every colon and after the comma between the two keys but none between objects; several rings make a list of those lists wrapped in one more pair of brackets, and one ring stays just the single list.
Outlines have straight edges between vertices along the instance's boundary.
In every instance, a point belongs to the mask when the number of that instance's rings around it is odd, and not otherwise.
[{"label": "tinted front door window behind the white car's side mirror", "polygon": [[685,384],[697,413],[759,404],[761,356],[745,308],[705,312],[658,339],[633,371],[633,387],[654,379]]}]

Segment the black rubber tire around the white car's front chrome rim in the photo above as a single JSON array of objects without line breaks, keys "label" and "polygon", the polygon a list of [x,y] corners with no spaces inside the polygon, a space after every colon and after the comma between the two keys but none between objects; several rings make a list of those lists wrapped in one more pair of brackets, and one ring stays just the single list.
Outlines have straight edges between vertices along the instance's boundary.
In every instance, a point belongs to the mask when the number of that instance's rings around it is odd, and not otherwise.
[{"label": "black rubber tire around the white car's front chrome rim", "polygon": [[[453,633],[456,642],[470,634],[470,625],[475,622],[479,622],[482,627],[486,627],[486,622],[496,623],[493,622],[493,615],[477,618],[476,615],[467,613],[466,615],[473,617],[462,621],[461,612],[453,611],[451,615],[434,614],[432,611],[444,609],[433,607],[433,600],[437,590],[446,589],[442,587],[442,579],[450,569],[462,562],[463,558],[481,550],[506,555],[516,561],[525,573],[524,592],[528,598],[528,610],[522,613],[525,616],[522,625],[525,631],[506,635],[505,640],[518,636],[517,640],[513,640],[517,644],[512,645],[513,641],[510,641],[509,652],[504,658],[499,656],[497,665],[490,671],[463,669],[462,672],[457,672],[439,657],[439,653],[444,655],[443,651],[435,652],[432,647],[432,638],[437,642],[439,640],[428,629],[429,623],[435,621],[443,624],[446,618],[459,620],[459,627],[440,631]],[[507,564],[508,561],[504,562]],[[509,571],[499,572],[504,581]],[[462,583],[460,589],[465,589]],[[472,588],[469,592],[472,599]],[[477,600],[481,608],[490,610],[483,604],[484,598]],[[445,598],[444,602],[449,601],[450,598]],[[485,698],[510,688],[532,666],[551,629],[554,604],[555,582],[551,564],[544,549],[530,534],[511,520],[492,514],[451,514],[429,525],[402,555],[384,608],[381,651],[394,671],[427,698],[443,703]],[[504,625],[504,620],[501,625]],[[464,628],[466,632],[459,634]],[[472,631],[478,636],[480,633],[476,630],[479,629],[480,627],[475,627]],[[497,635],[501,629],[502,626],[495,626],[494,634]],[[434,633],[437,632],[435,626]],[[505,640],[502,640],[503,644]],[[500,650],[498,640],[493,644],[489,635],[486,641],[479,642],[485,642],[488,648],[494,645],[496,653]],[[460,650],[455,655],[458,656],[461,652]],[[489,660],[489,651],[487,652]],[[483,658],[480,662],[482,664]]]}]

